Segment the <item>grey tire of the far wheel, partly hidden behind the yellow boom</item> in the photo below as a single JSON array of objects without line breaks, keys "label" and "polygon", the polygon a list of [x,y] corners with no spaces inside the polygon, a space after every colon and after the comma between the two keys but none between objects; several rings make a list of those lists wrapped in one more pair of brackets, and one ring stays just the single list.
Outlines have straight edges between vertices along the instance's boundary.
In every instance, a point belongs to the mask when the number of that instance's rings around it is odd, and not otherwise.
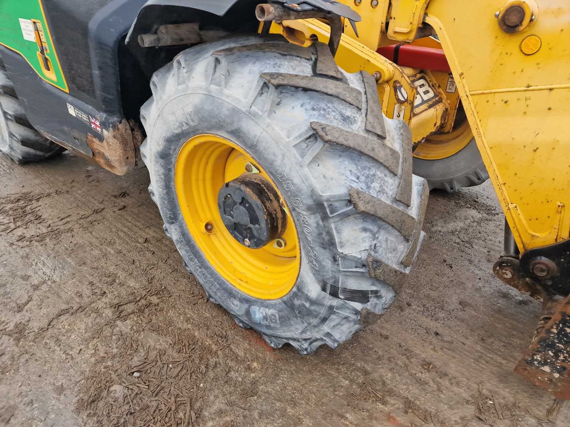
[{"label": "grey tire of the far wheel, partly hidden behind the yellow boom", "polygon": [[463,187],[484,183],[489,174],[477,148],[475,138],[458,153],[439,160],[425,160],[414,157],[414,174],[423,176],[430,190],[438,189],[454,193]]}]

